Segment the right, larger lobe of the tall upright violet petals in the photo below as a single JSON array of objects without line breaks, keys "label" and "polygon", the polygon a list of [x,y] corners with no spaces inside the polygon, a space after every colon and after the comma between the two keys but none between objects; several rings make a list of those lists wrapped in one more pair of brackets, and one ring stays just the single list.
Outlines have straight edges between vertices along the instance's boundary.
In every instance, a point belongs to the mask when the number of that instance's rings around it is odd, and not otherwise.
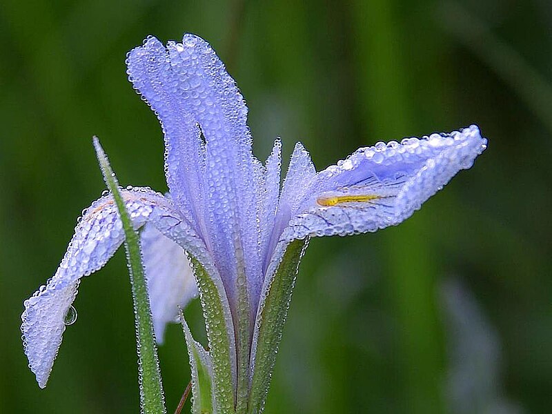
[{"label": "right, larger lobe of the tall upright violet petals", "polygon": [[182,88],[182,106],[197,121],[205,138],[204,199],[208,246],[235,299],[240,250],[247,279],[260,272],[257,249],[255,161],[247,126],[247,107],[235,81],[213,48],[185,34],[182,43],[167,45],[170,65]]}]

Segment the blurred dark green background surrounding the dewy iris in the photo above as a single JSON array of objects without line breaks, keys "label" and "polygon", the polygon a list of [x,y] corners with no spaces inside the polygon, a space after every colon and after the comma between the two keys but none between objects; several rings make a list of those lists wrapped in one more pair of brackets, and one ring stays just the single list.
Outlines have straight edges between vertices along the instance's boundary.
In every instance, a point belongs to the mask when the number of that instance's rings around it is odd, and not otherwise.
[{"label": "blurred dark green background surrounding the dewy iris", "polygon": [[[139,412],[122,251],[81,283],[44,390],[20,314],[104,188],[92,135],[121,183],[166,190],[161,129],[124,59],[183,32],[228,64],[261,159],[277,136],[318,169],[379,140],[473,123],[489,138],[401,226],[311,241],[266,412],[549,410],[552,3],[3,0],[0,412]],[[199,304],[187,313],[200,332]],[[159,354],[172,413],[189,380],[179,326]]]}]

